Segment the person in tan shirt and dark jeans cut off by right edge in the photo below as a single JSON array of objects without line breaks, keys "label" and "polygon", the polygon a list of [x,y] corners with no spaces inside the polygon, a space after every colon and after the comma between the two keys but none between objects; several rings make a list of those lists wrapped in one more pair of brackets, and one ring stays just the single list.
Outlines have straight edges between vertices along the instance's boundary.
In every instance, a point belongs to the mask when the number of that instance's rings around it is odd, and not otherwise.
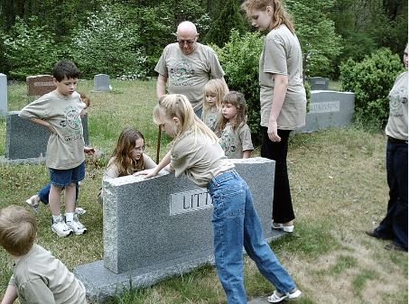
[{"label": "person in tan shirt and dark jeans cut off by right edge", "polygon": [[375,230],[367,235],[391,240],[387,250],[407,252],[407,115],[408,115],[408,53],[404,49],[406,71],[395,79],[389,92],[389,118],[386,124],[386,176],[389,201],[386,216]]}]

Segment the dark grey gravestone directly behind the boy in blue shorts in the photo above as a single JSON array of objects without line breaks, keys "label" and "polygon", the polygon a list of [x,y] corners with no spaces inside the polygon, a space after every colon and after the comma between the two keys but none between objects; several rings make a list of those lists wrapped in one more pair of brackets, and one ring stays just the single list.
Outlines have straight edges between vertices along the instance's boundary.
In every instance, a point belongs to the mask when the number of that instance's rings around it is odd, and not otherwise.
[{"label": "dark grey gravestone directly behind the boy in blue shorts", "polygon": [[[38,158],[45,158],[50,132],[46,127],[20,117],[19,113],[20,111],[11,111],[6,116],[5,158],[10,161],[36,161]],[[81,120],[84,142],[88,145],[88,116],[84,115]]]}]

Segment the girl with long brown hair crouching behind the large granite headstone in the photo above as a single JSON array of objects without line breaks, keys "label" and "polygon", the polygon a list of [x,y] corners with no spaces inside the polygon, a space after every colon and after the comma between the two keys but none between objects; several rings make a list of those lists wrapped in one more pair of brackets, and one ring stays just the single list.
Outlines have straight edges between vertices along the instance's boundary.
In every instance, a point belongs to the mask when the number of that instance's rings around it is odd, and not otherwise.
[{"label": "girl with long brown hair crouching behind the large granite headstone", "polygon": [[[132,127],[125,127],[119,134],[116,148],[107,161],[102,180],[115,179],[132,175],[137,171],[152,169],[156,163],[144,154],[144,135]],[[98,194],[98,201],[102,202],[103,191]]]}]

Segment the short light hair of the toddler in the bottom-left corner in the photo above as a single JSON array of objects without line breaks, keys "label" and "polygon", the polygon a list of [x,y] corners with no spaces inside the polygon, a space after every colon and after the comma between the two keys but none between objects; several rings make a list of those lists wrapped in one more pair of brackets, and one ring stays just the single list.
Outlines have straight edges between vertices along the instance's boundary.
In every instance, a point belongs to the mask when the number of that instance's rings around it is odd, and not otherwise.
[{"label": "short light hair of the toddler in the bottom-left corner", "polygon": [[7,253],[22,256],[33,247],[37,222],[31,212],[11,205],[0,210],[0,244]]}]

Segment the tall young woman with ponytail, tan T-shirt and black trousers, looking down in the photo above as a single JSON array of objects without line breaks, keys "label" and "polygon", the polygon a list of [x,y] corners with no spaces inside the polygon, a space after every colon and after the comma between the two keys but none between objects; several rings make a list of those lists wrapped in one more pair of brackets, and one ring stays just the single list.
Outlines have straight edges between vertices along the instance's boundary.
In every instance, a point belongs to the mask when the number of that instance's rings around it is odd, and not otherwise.
[{"label": "tall young woman with ponytail, tan T-shirt and black trousers, looking down", "polygon": [[275,161],[272,227],[293,232],[287,150],[291,131],[305,124],[300,42],[280,0],[246,0],[241,7],[258,31],[268,31],[259,67],[261,156]]}]

